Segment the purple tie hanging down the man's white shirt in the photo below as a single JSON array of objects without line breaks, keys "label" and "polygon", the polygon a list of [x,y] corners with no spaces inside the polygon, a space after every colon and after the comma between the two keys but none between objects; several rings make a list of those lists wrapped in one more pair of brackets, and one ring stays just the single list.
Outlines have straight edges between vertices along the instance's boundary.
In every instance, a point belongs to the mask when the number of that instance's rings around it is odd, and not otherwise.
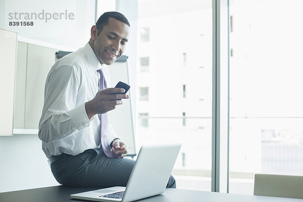
[{"label": "purple tie hanging down the man's white shirt", "polygon": [[[102,69],[97,70],[100,74],[99,90],[107,88],[107,83],[105,81]],[[100,136],[101,136],[101,145],[104,151],[104,154],[109,158],[115,158],[110,147],[107,144],[107,131],[108,131],[108,114],[99,114],[100,119]]]}]

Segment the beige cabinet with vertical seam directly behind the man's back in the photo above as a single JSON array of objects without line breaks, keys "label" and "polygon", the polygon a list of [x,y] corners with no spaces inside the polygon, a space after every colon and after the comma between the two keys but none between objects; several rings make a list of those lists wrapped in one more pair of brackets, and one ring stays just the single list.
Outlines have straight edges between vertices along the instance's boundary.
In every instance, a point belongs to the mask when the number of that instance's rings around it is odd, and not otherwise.
[{"label": "beige cabinet with vertical seam directly behind the man's back", "polygon": [[55,63],[57,51],[18,42],[14,129],[38,128],[44,102],[45,80]]}]

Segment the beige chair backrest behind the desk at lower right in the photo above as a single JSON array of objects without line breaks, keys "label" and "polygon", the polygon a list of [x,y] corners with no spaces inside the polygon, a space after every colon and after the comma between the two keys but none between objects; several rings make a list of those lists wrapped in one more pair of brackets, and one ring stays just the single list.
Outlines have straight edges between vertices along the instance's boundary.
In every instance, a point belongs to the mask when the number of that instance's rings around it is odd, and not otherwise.
[{"label": "beige chair backrest behind the desk at lower right", "polygon": [[303,198],[303,176],[256,174],[254,195]]}]

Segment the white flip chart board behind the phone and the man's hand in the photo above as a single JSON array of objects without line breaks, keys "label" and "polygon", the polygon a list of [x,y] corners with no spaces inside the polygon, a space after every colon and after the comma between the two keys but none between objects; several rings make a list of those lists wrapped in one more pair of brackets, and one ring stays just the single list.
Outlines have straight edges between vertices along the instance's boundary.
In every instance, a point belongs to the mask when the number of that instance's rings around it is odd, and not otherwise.
[{"label": "white flip chart board behind the phone and the man's hand", "polygon": [[[113,65],[108,66],[112,87],[122,81],[129,84],[129,72],[127,56],[122,56]],[[130,94],[132,86],[127,94]],[[109,123],[113,126],[115,133],[127,145],[128,156],[136,156],[134,120],[132,114],[131,97],[123,99],[123,104],[116,106],[115,110],[108,112]]]}]

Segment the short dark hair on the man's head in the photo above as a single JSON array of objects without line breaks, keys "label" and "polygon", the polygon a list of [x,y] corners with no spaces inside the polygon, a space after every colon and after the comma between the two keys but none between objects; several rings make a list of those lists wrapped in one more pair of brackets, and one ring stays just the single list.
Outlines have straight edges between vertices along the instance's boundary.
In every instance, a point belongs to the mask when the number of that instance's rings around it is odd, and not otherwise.
[{"label": "short dark hair on the man's head", "polygon": [[127,18],[119,12],[112,11],[112,12],[106,12],[102,14],[102,16],[99,17],[98,21],[96,22],[96,27],[98,29],[98,35],[100,31],[102,31],[103,27],[109,23],[109,18],[115,18],[125,24],[127,24],[130,27],[130,24],[127,20]]}]

